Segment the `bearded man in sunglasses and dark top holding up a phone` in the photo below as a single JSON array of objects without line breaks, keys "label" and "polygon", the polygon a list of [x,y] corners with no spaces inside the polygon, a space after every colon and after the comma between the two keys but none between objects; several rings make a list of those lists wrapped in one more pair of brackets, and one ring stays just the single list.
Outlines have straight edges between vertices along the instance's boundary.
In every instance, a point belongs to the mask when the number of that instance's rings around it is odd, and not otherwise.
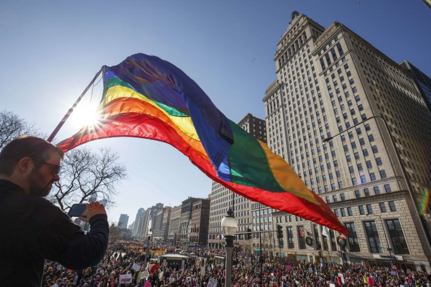
[{"label": "bearded man in sunglasses and dark top holding up a phone", "polygon": [[43,198],[60,180],[63,152],[42,138],[23,136],[0,152],[0,282],[41,286],[45,259],[78,270],[99,263],[108,245],[104,206],[87,204],[91,231]]}]

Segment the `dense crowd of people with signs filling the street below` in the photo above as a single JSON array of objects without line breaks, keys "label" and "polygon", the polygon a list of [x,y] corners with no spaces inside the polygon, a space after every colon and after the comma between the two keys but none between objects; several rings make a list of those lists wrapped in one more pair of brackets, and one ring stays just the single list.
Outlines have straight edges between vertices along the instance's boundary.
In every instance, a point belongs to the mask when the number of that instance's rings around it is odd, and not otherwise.
[{"label": "dense crowd of people with signs filling the street below", "polygon": [[[160,249],[162,247],[154,247]],[[217,287],[225,285],[221,260],[223,250],[189,249],[184,265],[156,262],[142,244],[112,245],[96,266],[81,271],[67,270],[56,262],[47,262],[44,287]],[[175,247],[163,252],[175,253]],[[153,259],[151,259],[151,257]],[[315,286],[431,286],[431,275],[423,271],[404,271],[361,264],[285,261],[261,263],[243,253],[238,254],[232,269],[235,287],[315,287]],[[268,260],[269,261],[269,260]],[[149,267],[147,270],[147,267]],[[138,267],[138,268],[136,268]],[[135,270],[138,269],[138,270]],[[130,274],[132,282],[120,284],[120,275]]]}]

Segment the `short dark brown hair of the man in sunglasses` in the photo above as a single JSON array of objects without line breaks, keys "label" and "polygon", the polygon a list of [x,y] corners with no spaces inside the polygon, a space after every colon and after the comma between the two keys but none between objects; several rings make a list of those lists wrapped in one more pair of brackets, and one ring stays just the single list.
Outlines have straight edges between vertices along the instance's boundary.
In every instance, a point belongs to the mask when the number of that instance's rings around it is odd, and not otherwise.
[{"label": "short dark brown hair of the man in sunglasses", "polygon": [[37,136],[18,136],[7,144],[0,152],[0,174],[10,176],[16,163],[23,157],[35,160],[47,160],[52,153],[58,153],[62,158],[64,152]]}]

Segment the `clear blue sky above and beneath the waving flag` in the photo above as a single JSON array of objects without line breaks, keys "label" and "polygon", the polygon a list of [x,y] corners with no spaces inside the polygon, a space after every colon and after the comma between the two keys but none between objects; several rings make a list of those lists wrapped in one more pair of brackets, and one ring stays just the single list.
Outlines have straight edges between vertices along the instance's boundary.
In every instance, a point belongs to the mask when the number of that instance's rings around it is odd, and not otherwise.
[{"label": "clear blue sky above and beneath the waving flag", "polygon": [[[264,118],[262,98],[276,78],[273,55],[293,10],[324,27],[337,20],[431,76],[431,9],[421,0],[14,0],[0,4],[0,108],[49,134],[102,65],[141,52],[181,68],[230,119],[248,112]],[[100,100],[100,86],[92,103]],[[83,102],[89,100],[88,94]],[[77,130],[71,119],[57,138]],[[111,220],[126,213],[130,224],[140,207],[210,193],[211,181],[161,142],[117,138],[86,146],[119,151],[127,167]]]}]

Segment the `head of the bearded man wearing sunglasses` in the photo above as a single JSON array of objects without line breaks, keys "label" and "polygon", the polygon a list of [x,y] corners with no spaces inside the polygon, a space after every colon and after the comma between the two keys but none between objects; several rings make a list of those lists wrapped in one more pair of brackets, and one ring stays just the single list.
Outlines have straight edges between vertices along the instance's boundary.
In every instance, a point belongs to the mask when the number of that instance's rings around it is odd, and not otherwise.
[{"label": "head of the bearded man wearing sunglasses", "polygon": [[0,178],[21,186],[27,194],[46,196],[60,180],[62,150],[35,136],[13,139],[0,152]]}]

